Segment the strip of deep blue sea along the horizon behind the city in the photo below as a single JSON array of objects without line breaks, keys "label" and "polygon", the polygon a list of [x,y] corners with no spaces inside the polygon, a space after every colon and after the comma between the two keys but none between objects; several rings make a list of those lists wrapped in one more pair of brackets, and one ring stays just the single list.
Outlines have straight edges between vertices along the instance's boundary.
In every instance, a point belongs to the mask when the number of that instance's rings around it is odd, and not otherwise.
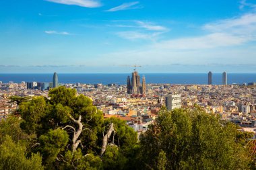
[{"label": "strip of deep blue sea along the horizon behind the city", "polygon": [[[59,83],[85,83],[96,84],[102,83],[107,85],[115,83],[117,85],[125,85],[127,83],[127,76],[131,77],[131,73],[111,73],[111,74],[98,74],[98,73],[59,73]],[[206,85],[207,73],[139,73],[145,75],[146,83],[170,83],[170,84],[182,84],[182,85]],[[25,82],[52,82],[53,74],[1,74],[0,81],[3,83],[21,83]],[[256,82],[256,73],[229,73],[228,84],[243,84]],[[216,73],[212,75],[212,84],[222,84],[222,74]]]}]

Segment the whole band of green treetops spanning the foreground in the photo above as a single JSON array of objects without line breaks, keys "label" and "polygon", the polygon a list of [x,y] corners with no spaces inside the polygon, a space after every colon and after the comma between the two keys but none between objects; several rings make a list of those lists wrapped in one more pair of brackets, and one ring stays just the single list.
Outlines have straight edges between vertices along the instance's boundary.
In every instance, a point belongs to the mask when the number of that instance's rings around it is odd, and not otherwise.
[{"label": "whole band of green treetops spanning the foreground", "polygon": [[[17,99],[14,97],[13,99]],[[0,169],[253,169],[251,134],[195,107],[162,108],[141,133],[103,114],[75,89],[18,98],[0,122]],[[31,168],[33,167],[33,168]]]}]

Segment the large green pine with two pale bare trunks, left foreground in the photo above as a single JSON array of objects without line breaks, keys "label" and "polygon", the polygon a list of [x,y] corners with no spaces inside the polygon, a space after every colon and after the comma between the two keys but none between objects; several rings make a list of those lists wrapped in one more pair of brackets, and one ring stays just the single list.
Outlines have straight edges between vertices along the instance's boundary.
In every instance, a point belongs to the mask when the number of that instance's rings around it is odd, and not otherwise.
[{"label": "large green pine with two pale bare trunks, left foreground", "polygon": [[[124,169],[134,154],[137,133],[124,121],[104,120],[92,100],[75,89],[58,87],[48,99],[33,97],[21,103],[20,114],[21,128],[36,134],[31,150],[42,154],[46,169],[109,169],[103,162]],[[110,153],[119,159],[107,157]]]}]

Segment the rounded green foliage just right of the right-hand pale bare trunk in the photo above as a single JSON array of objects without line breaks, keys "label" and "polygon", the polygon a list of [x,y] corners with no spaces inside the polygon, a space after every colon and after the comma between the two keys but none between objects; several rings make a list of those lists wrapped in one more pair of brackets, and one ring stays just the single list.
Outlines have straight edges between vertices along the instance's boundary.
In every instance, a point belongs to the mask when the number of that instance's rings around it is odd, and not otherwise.
[{"label": "rounded green foliage just right of the right-hand pale bare trunk", "polygon": [[[108,136],[108,146],[102,155],[104,169],[135,169],[137,132],[119,118],[104,120],[103,134],[113,124],[114,132]],[[105,129],[105,130],[104,130]]]}]

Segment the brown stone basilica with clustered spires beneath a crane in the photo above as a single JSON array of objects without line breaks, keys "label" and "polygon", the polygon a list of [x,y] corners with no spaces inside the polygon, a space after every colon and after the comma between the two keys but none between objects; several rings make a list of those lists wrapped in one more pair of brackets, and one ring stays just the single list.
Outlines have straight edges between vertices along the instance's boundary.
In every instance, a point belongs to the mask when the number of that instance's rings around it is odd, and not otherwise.
[{"label": "brown stone basilica with clustered spires beneath a crane", "polygon": [[131,78],[127,77],[127,93],[146,95],[146,79],[142,77],[142,85],[140,85],[140,77],[136,70],[131,74]]}]

